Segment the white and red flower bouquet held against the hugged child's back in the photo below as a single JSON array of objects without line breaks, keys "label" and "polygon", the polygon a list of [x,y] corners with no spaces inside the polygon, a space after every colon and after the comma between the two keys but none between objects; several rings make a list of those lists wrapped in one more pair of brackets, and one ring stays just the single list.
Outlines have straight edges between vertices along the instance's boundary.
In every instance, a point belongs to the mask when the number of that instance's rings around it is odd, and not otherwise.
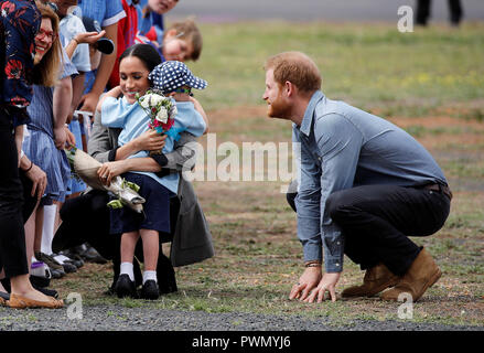
[{"label": "white and red flower bouquet held against the hugged child's back", "polygon": [[[148,89],[143,96],[137,95],[137,101],[150,117],[148,127],[158,133],[166,133],[176,141],[179,131],[172,129],[174,117],[178,113],[173,99],[165,97],[161,90]],[[150,154],[161,154],[161,150],[151,151]]]}]

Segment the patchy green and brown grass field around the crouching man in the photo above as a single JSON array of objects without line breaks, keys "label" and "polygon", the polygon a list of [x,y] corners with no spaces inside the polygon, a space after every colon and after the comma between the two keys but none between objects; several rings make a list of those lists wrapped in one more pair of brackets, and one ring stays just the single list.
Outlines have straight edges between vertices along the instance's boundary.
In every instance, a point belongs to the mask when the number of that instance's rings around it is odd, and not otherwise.
[{"label": "patchy green and brown grass field around the crouching man", "polygon": [[[208,81],[208,88],[196,97],[208,114],[217,146],[290,141],[288,121],[266,118],[262,65],[269,55],[297,50],[316,61],[329,97],[388,118],[433,153],[454,200],[445,226],[415,239],[435,257],[443,276],[416,303],[413,320],[484,325],[484,23],[415,33],[399,33],[396,24],[254,22],[201,29],[203,55],[189,65]],[[203,137],[201,143],[206,146],[206,140]],[[150,303],[104,297],[110,266],[92,264],[53,287],[63,298],[72,291],[83,293],[87,304],[330,317],[336,324],[397,320],[400,303],[378,299],[320,304],[287,299],[303,268],[295,214],[280,192],[283,185],[194,182],[216,256],[176,269],[178,293]],[[362,278],[346,258],[337,291]]]}]

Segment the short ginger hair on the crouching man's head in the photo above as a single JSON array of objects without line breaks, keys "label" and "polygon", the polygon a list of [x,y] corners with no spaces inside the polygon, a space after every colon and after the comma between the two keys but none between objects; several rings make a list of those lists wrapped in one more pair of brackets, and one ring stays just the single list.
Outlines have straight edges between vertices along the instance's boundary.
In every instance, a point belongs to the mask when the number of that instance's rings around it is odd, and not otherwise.
[{"label": "short ginger hair on the crouching man's head", "polygon": [[289,81],[306,94],[321,89],[322,79],[316,64],[301,52],[284,52],[271,56],[263,67],[266,71],[273,68],[273,78],[280,85]]}]

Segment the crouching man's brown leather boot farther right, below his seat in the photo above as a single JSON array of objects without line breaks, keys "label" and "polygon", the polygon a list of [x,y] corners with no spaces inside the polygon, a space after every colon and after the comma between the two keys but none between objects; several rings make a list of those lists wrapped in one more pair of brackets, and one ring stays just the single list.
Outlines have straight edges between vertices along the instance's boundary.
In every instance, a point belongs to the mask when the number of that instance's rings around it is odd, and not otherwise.
[{"label": "crouching man's brown leather boot farther right, below his seat", "polygon": [[439,280],[440,276],[442,276],[442,271],[432,256],[426,249],[422,249],[397,286],[383,292],[381,299],[398,300],[400,293],[408,292],[415,302],[420,299],[429,287]]}]

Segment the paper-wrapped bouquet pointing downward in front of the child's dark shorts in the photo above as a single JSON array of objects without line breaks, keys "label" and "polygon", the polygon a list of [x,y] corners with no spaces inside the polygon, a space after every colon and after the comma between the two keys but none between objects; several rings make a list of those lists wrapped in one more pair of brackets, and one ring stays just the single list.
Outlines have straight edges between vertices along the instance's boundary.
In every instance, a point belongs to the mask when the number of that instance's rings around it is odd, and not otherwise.
[{"label": "paper-wrapped bouquet pointing downward in front of the child's dark shorts", "polygon": [[97,175],[97,170],[103,165],[99,161],[79,150],[75,146],[69,146],[65,149],[67,159],[73,172],[79,176],[86,184],[93,189],[104,190],[112,195],[116,200],[108,203],[111,208],[120,208],[123,205],[128,205],[130,208],[138,213],[143,212],[144,199],[138,194],[139,186],[125,180],[121,176],[112,178],[109,186],[103,184]]}]

